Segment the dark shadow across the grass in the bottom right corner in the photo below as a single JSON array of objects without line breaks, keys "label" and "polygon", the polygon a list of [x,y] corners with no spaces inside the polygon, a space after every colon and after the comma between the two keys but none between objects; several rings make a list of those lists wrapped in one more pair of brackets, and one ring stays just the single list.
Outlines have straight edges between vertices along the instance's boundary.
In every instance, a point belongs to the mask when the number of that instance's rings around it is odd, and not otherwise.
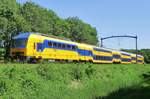
[{"label": "dark shadow across the grass in the bottom right corner", "polygon": [[143,74],[142,78],[144,83],[139,86],[120,89],[106,97],[96,97],[96,99],[150,99],[150,72]]}]

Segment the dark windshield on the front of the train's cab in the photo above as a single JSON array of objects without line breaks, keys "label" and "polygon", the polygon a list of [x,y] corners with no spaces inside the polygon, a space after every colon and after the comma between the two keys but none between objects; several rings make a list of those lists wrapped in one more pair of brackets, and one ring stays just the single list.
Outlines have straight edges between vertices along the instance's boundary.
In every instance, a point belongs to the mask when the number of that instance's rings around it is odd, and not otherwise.
[{"label": "dark windshield on the front of the train's cab", "polygon": [[14,39],[12,41],[13,48],[25,48],[27,40],[26,39]]}]

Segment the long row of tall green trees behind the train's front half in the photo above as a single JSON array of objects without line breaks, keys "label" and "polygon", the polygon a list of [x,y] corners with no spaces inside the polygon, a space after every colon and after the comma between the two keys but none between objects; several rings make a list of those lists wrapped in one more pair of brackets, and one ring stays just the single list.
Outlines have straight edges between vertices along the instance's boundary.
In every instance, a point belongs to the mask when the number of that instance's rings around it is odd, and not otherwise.
[{"label": "long row of tall green trees behind the train's front half", "polygon": [[21,5],[16,0],[0,0],[0,40],[4,41],[5,59],[13,36],[20,32],[38,32],[89,44],[97,43],[97,31],[78,17],[62,19],[35,3]]}]

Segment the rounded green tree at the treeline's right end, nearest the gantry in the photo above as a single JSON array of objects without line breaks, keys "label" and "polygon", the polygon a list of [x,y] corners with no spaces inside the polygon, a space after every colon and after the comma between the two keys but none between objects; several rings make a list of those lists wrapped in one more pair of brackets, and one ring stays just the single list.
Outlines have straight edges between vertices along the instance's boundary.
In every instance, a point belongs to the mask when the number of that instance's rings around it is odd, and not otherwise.
[{"label": "rounded green tree at the treeline's right end, nearest the gantry", "polygon": [[70,38],[73,41],[97,44],[96,29],[89,24],[84,23],[78,17],[69,17],[66,19],[70,27]]}]

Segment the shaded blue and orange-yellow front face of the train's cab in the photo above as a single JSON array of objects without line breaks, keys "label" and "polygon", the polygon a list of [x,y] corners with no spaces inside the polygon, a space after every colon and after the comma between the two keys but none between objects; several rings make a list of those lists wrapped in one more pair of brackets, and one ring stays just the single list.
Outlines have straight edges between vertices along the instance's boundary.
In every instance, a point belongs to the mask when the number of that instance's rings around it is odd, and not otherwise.
[{"label": "shaded blue and orange-yellow front face of the train's cab", "polygon": [[26,58],[26,46],[29,35],[29,33],[24,33],[13,37],[10,50],[13,59],[24,60]]}]

